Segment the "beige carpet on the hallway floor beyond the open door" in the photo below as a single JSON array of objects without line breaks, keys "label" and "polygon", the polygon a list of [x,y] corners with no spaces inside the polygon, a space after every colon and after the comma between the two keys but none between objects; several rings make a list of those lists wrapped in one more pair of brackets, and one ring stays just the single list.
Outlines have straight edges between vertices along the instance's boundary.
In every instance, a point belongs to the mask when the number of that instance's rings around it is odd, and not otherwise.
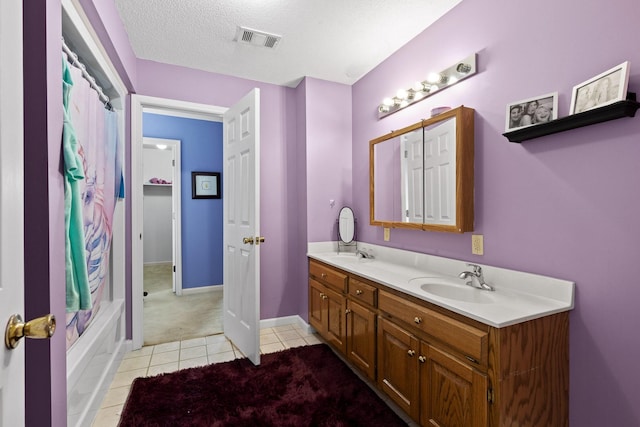
[{"label": "beige carpet on the hallway floor beyond the open door", "polygon": [[171,264],[144,266],[144,345],[222,333],[222,290],[176,296]]}]

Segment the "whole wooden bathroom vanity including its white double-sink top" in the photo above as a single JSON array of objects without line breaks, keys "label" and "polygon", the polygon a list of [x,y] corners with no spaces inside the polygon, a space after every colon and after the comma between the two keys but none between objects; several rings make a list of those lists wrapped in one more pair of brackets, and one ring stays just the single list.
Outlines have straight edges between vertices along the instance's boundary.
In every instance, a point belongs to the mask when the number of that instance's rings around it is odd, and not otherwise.
[{"label": "whole wooden bathroom vanity including its white double-sink top", "polygon": [[[314,244],[312,244],[314,245]],[[423,426],[567,426],[574,283],[368,245],[309,250],[309,323]],[[319,244],[322,245],[322,244]]]}]

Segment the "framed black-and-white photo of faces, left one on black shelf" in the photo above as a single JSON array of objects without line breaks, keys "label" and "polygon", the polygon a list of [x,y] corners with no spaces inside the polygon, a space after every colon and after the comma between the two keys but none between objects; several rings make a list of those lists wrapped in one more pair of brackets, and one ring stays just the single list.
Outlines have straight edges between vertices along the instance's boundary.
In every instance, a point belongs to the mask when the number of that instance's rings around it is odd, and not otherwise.
[{"label": "framed black-and-white photo of faces, left one on black shelf", "polygon": [[558,118],[558,92],[523,99],[507,105],[505,131],[539,125]]}]

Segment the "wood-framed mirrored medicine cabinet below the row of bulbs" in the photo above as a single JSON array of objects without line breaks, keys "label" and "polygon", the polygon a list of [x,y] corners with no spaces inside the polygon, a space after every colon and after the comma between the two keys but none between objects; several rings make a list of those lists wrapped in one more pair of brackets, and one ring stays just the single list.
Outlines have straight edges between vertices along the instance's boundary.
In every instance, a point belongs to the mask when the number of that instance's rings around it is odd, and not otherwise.
[{"label": "wood-framed mirrored medicine cabinet below the row of bulbs", "polygon": [[473,231],[473,193],[471,108],[460,106],[369,142],[371,225]]}]

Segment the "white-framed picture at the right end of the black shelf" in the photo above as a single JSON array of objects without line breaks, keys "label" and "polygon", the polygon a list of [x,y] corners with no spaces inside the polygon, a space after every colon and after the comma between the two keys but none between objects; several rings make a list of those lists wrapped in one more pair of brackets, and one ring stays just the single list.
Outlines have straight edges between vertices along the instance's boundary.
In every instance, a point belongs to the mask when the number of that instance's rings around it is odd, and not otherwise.
[{"label": "white-framed picture at the right end of the black shelf", "polygon": [[569,114],[582,113],[627,98],[629,61],[573,87]]}]

